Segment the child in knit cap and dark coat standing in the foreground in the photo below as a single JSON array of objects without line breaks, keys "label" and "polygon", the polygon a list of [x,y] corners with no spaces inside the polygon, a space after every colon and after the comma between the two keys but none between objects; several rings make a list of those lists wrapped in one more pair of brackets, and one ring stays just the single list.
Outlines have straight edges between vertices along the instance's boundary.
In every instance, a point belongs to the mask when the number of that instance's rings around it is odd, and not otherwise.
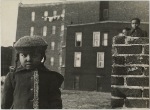
[{"label": "child in knit cap and dark coat standing in the foreground", "polygon": [[47,43],[40,36],[25,36],[15,43],[14,48],[17,51],[16,67],[6,76],[2,109],[62,108],[59,88],[64,78],[44,66]]}]

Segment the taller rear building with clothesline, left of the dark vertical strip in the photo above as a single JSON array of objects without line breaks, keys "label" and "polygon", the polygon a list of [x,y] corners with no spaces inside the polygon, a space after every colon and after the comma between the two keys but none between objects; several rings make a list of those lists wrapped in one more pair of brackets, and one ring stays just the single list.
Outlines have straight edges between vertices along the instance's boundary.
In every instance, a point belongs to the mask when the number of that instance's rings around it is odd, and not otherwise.
[{"label": "taller rear building with clothesline, left of the dark vertical strip", "polygon": [[[87,13],[85,13],[87,11]],[[85,17],[86,16],[86,17]],[[92,17],[89,17],[92,16]],[[25,35],[41,35],[48,42],[45,65],[64,74],[65,37],[68,24],[97,22],[99,2],[19,4],[16,40]],[[14,60],[12,61],[14,64]]]}]

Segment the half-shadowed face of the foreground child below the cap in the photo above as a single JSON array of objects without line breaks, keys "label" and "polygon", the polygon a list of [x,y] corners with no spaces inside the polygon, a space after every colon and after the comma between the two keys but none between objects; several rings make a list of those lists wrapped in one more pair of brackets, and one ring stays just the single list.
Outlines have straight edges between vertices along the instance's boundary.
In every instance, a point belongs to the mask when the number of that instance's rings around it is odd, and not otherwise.
[{"label": "half-shadowed face of the foreground child below the cap", "polygon": [[41,53],[20,53],[19,60],[21,65],[26,69],[33,69],[41,64]]}]

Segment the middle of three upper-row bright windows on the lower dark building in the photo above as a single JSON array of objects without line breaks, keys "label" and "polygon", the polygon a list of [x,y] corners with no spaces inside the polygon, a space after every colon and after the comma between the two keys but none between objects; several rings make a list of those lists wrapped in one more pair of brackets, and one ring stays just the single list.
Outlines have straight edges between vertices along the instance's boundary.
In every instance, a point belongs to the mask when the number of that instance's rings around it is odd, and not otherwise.
[{"label": "middle of three upper-row bright windows on the lower dark building", "polygon": [[100,32],[93,32],[93,47],[100,46]]}]

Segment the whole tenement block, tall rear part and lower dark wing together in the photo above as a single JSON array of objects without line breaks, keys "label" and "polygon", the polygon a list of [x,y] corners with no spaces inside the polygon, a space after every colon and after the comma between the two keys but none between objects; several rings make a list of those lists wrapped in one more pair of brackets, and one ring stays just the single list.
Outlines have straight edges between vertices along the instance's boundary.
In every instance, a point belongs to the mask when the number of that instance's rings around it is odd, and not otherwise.
[{"label": "whole tenement block, tall rear part and lower dark wing together", "polygon": [[148,32],[148,3],[20,3],[16,40],[42,36],[48,43],[45,65],[65,77],[65,89],[110,91],[112,37],[130,27],[134,17],[141,19],[141,27]]}]

